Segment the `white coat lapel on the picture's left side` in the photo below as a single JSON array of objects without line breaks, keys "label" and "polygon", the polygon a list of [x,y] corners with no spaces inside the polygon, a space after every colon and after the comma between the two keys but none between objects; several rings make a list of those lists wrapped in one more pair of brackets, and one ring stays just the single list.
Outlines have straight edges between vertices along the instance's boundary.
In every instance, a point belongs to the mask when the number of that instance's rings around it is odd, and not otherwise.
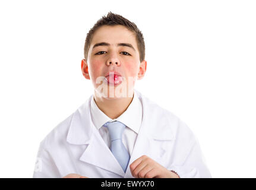
[{"label": "white coat lapel on the picture's left side", "polygon": [[109,150],[109,147],[103,141],[99,131],[92,124],[90,113],[90,101],[92,97],[80,106],[72,116],[67,141],[75,145],[88,144],[86,150],[80,156],[81,161],[124,177],[124,170],[122,170],[122,167]]}]

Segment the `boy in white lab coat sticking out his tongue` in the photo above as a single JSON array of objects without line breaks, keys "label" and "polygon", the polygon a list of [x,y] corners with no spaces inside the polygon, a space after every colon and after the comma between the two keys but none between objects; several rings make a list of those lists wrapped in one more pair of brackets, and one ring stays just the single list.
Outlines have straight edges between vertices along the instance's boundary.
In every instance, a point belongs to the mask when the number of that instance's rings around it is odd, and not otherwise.
[{"label": "boy in white lab coat sticking out his tongue", "polygon": [[109,12],[89,31],[81,69],[94,94],[40,143],[34,178],[210,178],[184,122],[134,89],[143,34]]}]

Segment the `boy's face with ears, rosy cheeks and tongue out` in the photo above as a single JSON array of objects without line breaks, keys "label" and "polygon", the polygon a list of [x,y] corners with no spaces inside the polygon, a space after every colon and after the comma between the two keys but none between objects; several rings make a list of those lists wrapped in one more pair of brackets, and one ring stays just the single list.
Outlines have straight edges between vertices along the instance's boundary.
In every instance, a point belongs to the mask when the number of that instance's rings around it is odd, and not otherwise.
[{"label": "boy's face with ears, rosy cheeks and tongue out", "polygon": [[84,77],[92,81],[96,95],[116,99],[132,97],[135,81],[144,77],[147,62],[140,62],[132,31],[120,25],[102,26],[95,31],[87,62],[83,59],[81,68]]}]

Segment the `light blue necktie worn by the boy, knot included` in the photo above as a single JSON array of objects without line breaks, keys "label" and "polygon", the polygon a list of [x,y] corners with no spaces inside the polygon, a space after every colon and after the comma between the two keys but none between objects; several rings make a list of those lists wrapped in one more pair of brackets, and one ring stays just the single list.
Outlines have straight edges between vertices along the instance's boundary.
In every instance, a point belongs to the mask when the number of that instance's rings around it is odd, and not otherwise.
[{"label": "light blue necktie worn by the boy, knot included", "polygon": [[119,121],[106,122],[103,126],[109,130],[111,140],[110,150],[125,172],[130,159],[129,153],[122,143],[122,134],[126,126]]}]

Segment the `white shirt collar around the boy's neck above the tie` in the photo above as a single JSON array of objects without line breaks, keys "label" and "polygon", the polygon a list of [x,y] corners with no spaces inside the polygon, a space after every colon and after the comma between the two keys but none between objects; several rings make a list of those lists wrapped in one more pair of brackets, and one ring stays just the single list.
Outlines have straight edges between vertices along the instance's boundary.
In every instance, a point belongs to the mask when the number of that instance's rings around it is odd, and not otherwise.
[{"label": "white shirt collar around the boy's neck above the tie", "polygon": [[119,121],[128,126],[128,128],[132,129],[132,131],[136,132],[137,134],[140,129],[143,116],[142,104],[140,99],[138,99],[138,94],[135,90],[134,97],[127,110],[125,110],[125,112],[116,119],[111,119],[105,113],[103,113],[102,110],[100,110],[96,105],[94,97],[91,99],[90,111],[91,119],[97,129],[100,129],[106,122]]}]

